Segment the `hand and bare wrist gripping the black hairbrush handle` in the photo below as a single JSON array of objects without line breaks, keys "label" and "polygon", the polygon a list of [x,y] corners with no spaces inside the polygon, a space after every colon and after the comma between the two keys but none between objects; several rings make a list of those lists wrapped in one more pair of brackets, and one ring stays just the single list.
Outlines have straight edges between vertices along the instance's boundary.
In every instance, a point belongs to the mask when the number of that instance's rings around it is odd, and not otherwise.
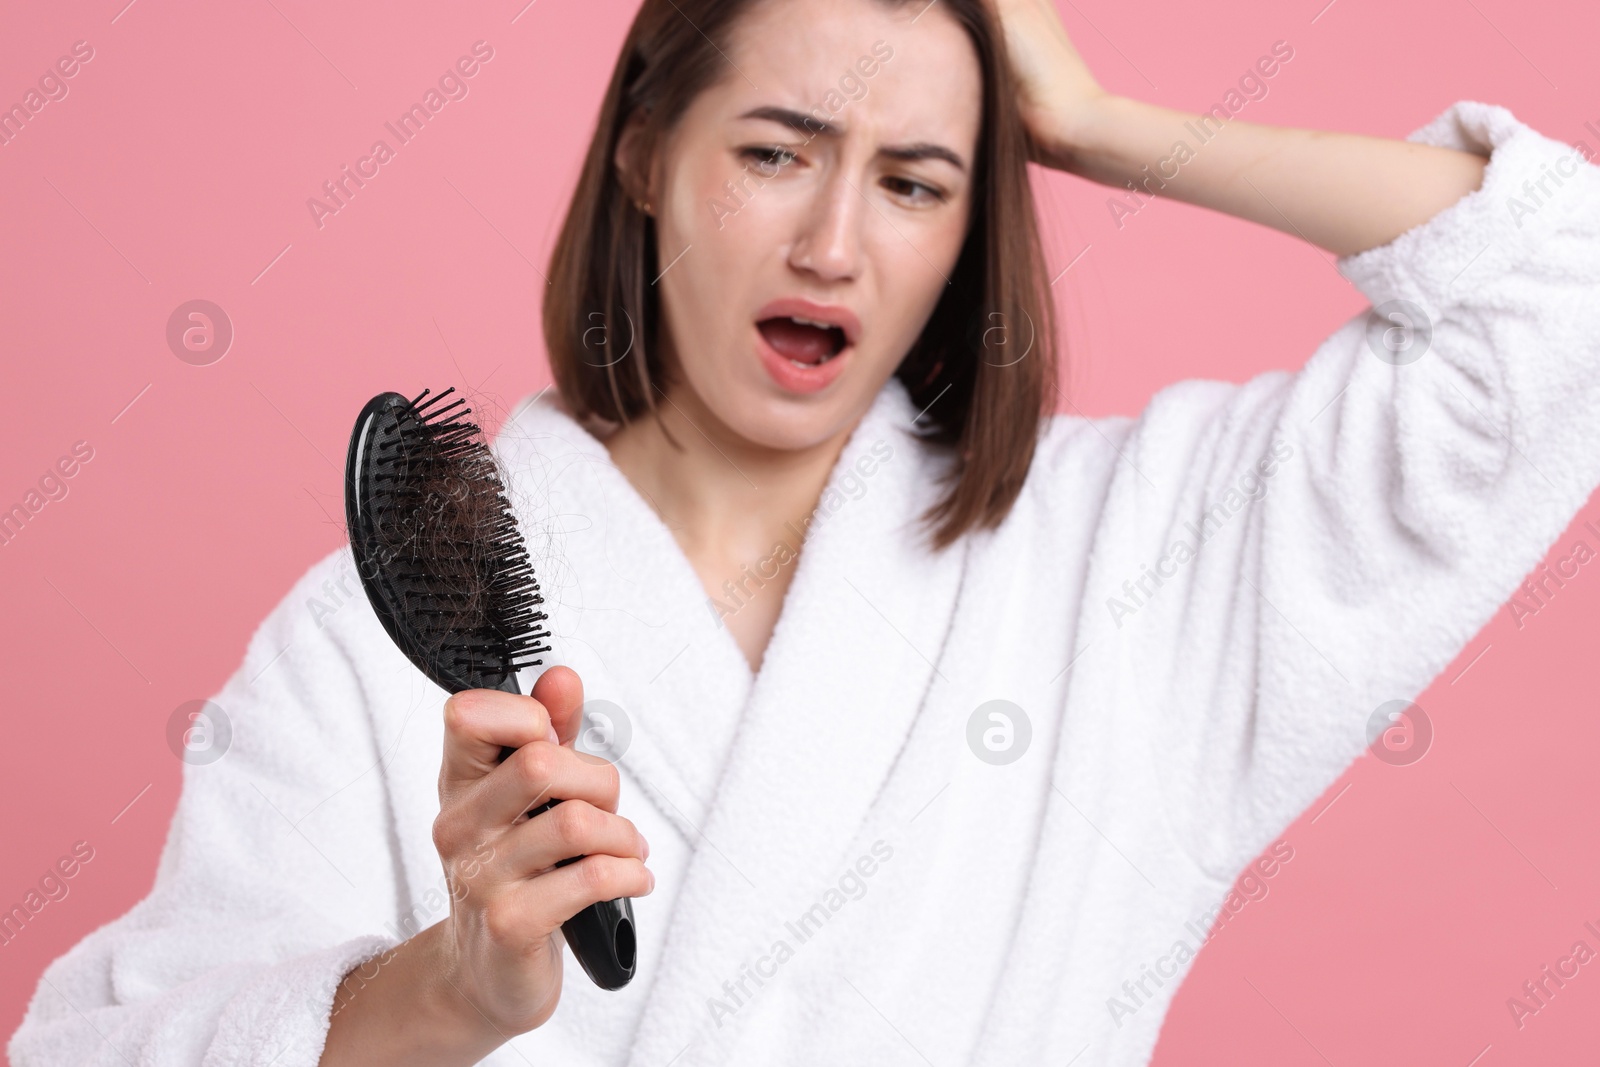
[{"label": "hand and bare wrist gripping the black hairbrush handle", "polygon": [[[531,696],[446,701],[434,845],[451,875],[450,917],[346,977],[325,1067],[478,1062],[555,1011],[568,917],[650,893],[650,848],[616,814],[616,768],[573,747],[581,705],[566,667],[546,670]],[[514,750],[504,761],[502,747]],[[563,803],[523,817],[550,793]]]}]

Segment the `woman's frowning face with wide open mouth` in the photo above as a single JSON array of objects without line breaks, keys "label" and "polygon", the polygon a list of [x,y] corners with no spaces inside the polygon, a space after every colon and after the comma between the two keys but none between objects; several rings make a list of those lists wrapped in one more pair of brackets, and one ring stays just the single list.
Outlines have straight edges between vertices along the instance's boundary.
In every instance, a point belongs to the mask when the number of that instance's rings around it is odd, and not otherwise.
[{"label": "woman's frowning face with wide open mouth", "polygon": [[726,56],[654,162],[666,355],[678,403],[718,429],[814,446],[856,424],[949,286],[978,54],[936,5],[768,0]]}]

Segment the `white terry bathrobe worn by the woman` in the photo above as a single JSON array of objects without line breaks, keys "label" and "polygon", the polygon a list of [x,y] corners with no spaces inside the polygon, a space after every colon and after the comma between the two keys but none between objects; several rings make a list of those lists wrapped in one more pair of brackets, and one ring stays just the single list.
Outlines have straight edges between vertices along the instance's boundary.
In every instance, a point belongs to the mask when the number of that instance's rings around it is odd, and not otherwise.
[{"label": "white terry bathrobe worn by the woman", "polygon": [[[1421,358],[1362,315],[1296,374],[1056,418],[1003,526],[939,555],[891,382],[755,677],[603,445],[515,414],[547,662],[626,715],[658,885],[634,982],[568,960],[485,1062],[1144,1064],[1235,877],[1600,483],[1600,171],[1483,104],[1413,139],[1493,149],[1482,190],[1339,262],[1424,310]],[[312,568],[216,697],[230,749],[186,768],[155,888],[46,971],[18,1067],[315,1064],[341,976],[446,915],[442,701],[347,552]]]}]

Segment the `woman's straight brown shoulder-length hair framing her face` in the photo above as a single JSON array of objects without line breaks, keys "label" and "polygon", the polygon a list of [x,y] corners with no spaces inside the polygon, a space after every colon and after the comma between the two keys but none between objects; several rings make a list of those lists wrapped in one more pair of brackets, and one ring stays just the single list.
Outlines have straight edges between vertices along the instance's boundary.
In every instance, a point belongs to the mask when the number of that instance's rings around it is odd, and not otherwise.
[{"label": "woman's straight brown shoulder-length hair framing her face", "polygon": [[[622,43],[544,302],[555,384],[579,419],[627,422],[654,411],[664,374],[653,344],[658,291],[646,283],[654,226],[618,174],[618,142],[635,117],[645,144],[659,142],[726,74],[733,26],[754,2],[643,0]],[[966,30],[982,70],[973,216],[950,283],[896,370],[917,408],[926,408],[922,438],[955,453],[944,496],[923,515],[938,549],[971,528],[997,526],[1011,510],[1056,382],[1054,307],[1005,40],[984,0],[944,0],[942,8]],[[1011,355],[1018,349],[1026,355]]]}]

